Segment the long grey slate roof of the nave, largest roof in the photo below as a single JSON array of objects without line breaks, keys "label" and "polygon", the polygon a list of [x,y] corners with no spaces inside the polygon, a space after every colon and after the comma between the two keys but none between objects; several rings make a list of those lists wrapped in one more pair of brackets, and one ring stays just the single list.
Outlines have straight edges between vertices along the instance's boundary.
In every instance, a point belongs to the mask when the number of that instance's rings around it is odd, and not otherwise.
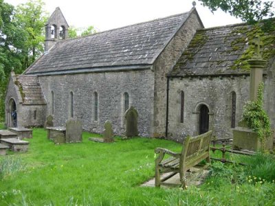
[{"label": "long grey slate roof of the nave, largest roof", "polygon": [[90,36],[60,41],[34,62],[25,73],[152,65],[194,10]]}]

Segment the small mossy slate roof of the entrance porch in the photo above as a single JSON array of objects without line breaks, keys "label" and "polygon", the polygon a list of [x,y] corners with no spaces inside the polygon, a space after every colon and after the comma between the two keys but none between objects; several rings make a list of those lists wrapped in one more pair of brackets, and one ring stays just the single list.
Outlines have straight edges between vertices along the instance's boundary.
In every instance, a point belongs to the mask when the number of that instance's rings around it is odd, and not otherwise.
[{"label": "small mossy slate roof of the entrance porch", "polygon": [[15,78],[23,104],[46,104],[37,76],[17,75]]}]

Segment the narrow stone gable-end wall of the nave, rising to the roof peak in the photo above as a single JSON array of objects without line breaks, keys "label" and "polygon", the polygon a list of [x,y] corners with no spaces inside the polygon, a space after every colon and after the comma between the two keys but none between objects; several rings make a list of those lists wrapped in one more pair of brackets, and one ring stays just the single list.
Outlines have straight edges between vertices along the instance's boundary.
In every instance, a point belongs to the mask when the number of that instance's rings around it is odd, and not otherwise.
[{"label": "narrow stone gable-end wall of the nave, rising to the roof peak", "polygon": [[196,30],[202,28],[197,12],[193,10],[184,25],[168,43],[164,52],[155,62],[155,97],[154,97],[154,133],[153,137],[164,137],[166,128],[166,74],[170,71],[184,49],[190,43]]}]

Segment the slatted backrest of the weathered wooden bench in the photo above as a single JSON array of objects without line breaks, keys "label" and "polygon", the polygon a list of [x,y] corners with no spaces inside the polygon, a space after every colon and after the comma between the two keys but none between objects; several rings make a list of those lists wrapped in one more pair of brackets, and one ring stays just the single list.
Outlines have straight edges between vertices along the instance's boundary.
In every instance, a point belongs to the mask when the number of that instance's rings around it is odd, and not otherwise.
[{"label": "slatted backrest of the weathered wooden bench", "polygon": [[186,137],[179,160],[181,168],[189,170],[201,160],[209,157],[211,135],[212,130],[197,137]]}]

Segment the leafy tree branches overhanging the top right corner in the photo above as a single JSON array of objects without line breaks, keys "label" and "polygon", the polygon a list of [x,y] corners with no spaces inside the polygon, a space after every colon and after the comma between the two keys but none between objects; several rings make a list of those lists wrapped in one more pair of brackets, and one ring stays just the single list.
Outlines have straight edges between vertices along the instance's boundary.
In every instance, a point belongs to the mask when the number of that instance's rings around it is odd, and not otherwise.
[{"label": "leafy tree branches overhanging the top right corner", "polygon": [[211,12],[218,8],[248,23],[255,23],[264,17],[273,17],[273,1],[270,0],[199,0]]}]

